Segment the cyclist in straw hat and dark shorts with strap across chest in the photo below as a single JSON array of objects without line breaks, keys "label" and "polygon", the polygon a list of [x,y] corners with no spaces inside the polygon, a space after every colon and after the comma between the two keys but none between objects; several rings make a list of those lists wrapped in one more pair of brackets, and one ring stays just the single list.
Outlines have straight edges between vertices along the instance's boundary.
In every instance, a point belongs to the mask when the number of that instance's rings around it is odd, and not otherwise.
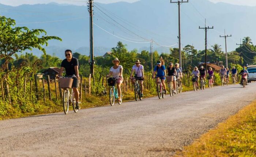
[{"label": "cyclist in straw hat and dark shorts with strap across chest", "polygon": [[[132,79],[132,73],[135,72],[135,78],[139,78],[140,81],[140,97],[143,97],[144,68],[143,65],[141,65],[140,63],[140,60],[137,60],[135,62],[135,65],[133,65],[130,79]],[[135,81],[136,80],[133,80],[132,83],[135,84]]]}]

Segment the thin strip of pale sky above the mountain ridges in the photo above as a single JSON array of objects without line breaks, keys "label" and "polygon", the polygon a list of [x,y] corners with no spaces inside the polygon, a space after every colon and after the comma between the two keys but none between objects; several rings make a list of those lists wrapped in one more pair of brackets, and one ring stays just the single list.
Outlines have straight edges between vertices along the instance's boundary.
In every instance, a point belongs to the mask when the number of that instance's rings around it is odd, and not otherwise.
[{"label": "thin strip of pale sky above the mountain ridges", "polygon": [[[44,4],[44,3],[50,3],[50,2],[85,5],[84,2],[82,1],[87,1],[87,0],[0,0],[0,3],[5,5],[12,5],[12,6],[17,6],[22,4],[38,4],[38,3]],[[99,3],[114,3],[118,1],[126,1],[129,3],[132,3],[138,0],[94,0],[94,1]],[[169,0],[166,0],[166,1],[169,1]],[[210,0],[210,1],[214,3],[225,2],[225,3],[235,4],[235,5],[256,6],[256,0]]]}]

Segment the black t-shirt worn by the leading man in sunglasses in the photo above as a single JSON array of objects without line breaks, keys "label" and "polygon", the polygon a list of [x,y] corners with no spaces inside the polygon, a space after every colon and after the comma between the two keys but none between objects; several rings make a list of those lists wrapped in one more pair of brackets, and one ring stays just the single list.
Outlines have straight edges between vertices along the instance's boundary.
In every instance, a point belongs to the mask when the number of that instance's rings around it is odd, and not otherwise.
[{"label": "black t-shirt worn by the leading man in sunglasses", "polygon": [[75,66],[78,66],[78,59],[75,57],[72,57],[70,62],[68,62],[67,58],[61,62],[61,67],[65,68],[66,76],[72,76],[76,74]]}]

